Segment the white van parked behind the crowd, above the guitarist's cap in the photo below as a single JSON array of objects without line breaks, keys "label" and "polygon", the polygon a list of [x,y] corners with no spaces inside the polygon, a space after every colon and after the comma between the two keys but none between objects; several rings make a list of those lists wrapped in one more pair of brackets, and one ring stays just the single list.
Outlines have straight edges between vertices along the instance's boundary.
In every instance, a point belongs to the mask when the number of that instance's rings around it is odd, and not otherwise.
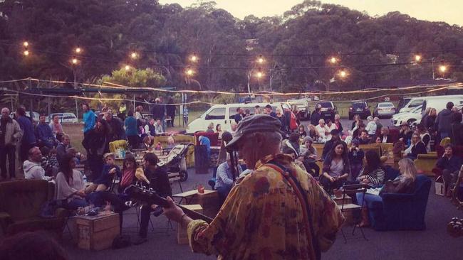
[{"label": "white van parked behind the crowd, above the guitarist's cap", "polygon": [[[188,124],[187,133],[206,131],[207,126],[211,123],[214,123],[214,127],[217,126],[217,124],[220,124],[222,126],[222,131],[230,131],[230,124],[234,121],[234,115],[236,114],[236,109],[238,107],[241,107],[241,109],[244,110],[249,109],[249,112],[251,112],[250,114],[254,114],[254,107],[259,105],[261,109],[264,109],[267,104],[269,103],[214,104],[214,106],[207,109],[201,117],[194,119]],[[283,112],[283,108],[291,108],[288,104],[282,102],[270,103],[270,105],[274,112],[277,107],[281,109],[281,112]]]}]

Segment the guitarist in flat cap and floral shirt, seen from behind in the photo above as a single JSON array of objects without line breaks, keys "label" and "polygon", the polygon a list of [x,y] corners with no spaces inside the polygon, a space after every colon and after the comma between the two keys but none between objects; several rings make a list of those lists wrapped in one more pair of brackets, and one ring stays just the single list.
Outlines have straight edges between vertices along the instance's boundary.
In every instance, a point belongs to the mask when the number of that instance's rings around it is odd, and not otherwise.
[{"label": "guitarist in flat cap and floral shirt, seen from behind", "polygon": [[238,150],[253,172],[236,180],[210,224],[167,198],[165,215],[187,227],[193,251],[219,259],[314,260],[331,247],[344,217],[316,180],[280,153],[280,129],[267,114],[239,123],[227,148]]}]

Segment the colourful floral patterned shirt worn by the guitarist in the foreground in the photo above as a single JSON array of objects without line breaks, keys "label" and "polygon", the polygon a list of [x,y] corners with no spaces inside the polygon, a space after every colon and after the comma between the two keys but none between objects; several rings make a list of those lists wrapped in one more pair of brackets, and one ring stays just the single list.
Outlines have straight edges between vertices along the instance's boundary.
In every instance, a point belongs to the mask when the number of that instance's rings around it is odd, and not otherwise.
[{"label": "colourful floral patterned shirt worn by the guitarist in the foreground", "polygon": [[331,247],[343,215],[311,175],[291,157],[278,154],[258,161],[256,170],[236,181],[210,224],[202,220],[189,223],[192,251],[216,254],[219,259],[310,259],[313,248],[301,203],[283,175],[266,165],[269,161],[295,170],[307,192],[315,239],[321,251]]}]

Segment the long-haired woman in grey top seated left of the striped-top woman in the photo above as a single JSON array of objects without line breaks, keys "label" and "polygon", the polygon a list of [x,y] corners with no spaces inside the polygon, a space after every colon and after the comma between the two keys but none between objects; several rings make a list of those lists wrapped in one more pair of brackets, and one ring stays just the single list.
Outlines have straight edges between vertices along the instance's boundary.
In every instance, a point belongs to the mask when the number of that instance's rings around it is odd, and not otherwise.
[{"label": "long-haired woman in grey top seated left of the striped-top woman", "polygon": [[340,188],[350,175],[348,148],[343,141],[334,143],[333,148],[323,161],[323,175],[320,183],[328,193]]}]

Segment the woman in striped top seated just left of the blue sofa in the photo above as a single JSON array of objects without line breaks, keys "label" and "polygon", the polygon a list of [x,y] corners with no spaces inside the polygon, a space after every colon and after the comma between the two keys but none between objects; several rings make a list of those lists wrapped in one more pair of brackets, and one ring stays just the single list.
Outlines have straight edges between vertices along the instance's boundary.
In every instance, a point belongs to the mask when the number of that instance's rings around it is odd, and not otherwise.
[{"label": "woman in striped top seated just left of the blue sofa", "polygon": [[360,170],[357,181],[371,185],[384,184],[385,170],[380,160],[380,155],[375,150],[368,150],[365,153],[365,166]]}]

